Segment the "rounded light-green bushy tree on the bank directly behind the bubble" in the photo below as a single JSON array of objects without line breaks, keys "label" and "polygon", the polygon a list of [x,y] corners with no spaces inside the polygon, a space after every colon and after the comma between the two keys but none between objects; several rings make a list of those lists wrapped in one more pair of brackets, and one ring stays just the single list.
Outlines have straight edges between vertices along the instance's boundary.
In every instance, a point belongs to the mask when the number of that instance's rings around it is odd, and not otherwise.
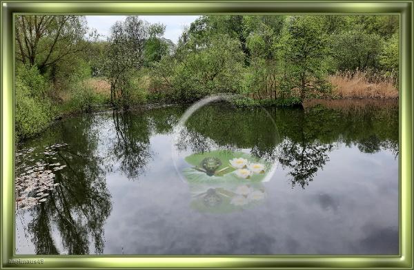
[{"label": "rounded light-green bushy tree on the bank directly behind the bubble", "polygon": [[[184,45],[186,46],[186,45]],[[182,51],[179,48],[179,51]],[[182,52],[181,52],[182,53]],[[244,54],[239,42],[227,34],[215,34],[196,50],[181,54],[173,85],[181,101],[194,101],[217,92],[238,92]]]}]

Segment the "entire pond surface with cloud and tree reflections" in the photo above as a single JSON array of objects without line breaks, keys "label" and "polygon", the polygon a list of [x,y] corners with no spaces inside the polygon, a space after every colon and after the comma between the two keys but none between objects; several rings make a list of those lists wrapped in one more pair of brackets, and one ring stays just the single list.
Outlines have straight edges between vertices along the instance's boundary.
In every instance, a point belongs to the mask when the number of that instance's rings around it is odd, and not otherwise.
[{"label": "entire pond surface with cloud and tree reflections", "polygon": [[16,253],[398,254],[397,101],[359,103],[59,121],[17,147]]}]

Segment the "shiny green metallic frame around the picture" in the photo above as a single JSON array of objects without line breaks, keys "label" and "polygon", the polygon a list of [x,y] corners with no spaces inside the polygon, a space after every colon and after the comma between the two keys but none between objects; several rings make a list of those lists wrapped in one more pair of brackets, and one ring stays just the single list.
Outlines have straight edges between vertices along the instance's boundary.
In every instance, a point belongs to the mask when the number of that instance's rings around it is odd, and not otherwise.
[{"label": "shiny green metallic frame around the picture", "polygon": [[[400,254],[397,256],[17,256],[14,253],[14,14],[399,14]],[[1,268],[413,268],[413,1],[1,1]],[[41,263],[43,259],[43,263]],[[30,261],[31,260],[31,261]],[[33,263],[36,260],[37,263]],[[28,262],[30,261],[30,262]]]}]

